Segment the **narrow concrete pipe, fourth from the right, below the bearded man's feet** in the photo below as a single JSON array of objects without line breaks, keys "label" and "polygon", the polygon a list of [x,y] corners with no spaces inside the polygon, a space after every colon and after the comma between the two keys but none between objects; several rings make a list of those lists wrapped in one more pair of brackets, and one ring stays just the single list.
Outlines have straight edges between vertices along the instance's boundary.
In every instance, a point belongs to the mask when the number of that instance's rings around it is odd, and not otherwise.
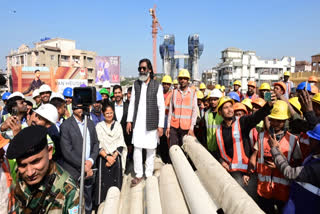
[{"label": "narrow concrete pipe, fourth from the right, below the bearded man's feet", "polygon": [[155,176],[150,176],[146,181],[147,213],[162,214],[159,183]]}]

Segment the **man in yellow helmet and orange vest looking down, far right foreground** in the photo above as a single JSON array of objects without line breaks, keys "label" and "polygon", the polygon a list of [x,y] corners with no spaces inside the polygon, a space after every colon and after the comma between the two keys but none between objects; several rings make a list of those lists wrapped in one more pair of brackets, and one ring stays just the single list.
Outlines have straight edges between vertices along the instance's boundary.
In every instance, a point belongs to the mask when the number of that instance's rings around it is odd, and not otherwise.
[{"label": "man in yellow helmet and orange vest looking down, far right foreground", "polygon": [[285,122],[289,118],[288,104],[282,100],[276,101],[269,115],[270,130],[261,132],[255,145],[255,150],[258,151],[258,204],[266,213],[276,213],[275,206],[278,212],[282,213],[281,210],[289,197],[290,186],[289,180],[276,168],[268,142],[277,141],[280,152],[291,165],[301,160],[298,137],[285,129]]}]

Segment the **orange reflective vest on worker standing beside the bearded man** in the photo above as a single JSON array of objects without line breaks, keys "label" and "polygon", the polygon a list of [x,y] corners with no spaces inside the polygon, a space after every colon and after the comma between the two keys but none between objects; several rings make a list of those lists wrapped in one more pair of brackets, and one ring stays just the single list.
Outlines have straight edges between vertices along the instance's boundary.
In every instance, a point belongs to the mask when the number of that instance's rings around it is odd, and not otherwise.
[{"label": "orange reflective vest on worker standing beside the bearded man", "polygon": [[172,95],[172,115],[170,126],[189,130],[192,120],[192,102],[195,96],[195,90],[188,90],[183,95],[180,90],[175,89]]}]

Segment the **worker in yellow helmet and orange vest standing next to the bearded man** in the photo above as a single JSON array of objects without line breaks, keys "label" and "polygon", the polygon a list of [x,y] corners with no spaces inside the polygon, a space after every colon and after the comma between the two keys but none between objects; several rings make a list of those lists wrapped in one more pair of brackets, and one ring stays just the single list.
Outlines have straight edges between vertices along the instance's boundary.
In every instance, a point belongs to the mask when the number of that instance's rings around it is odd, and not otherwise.
[{"label": "worker in yellow helmet and orange vest standing next to the bearded man", "polygon": [[195,90],[188,87],[190,74],[181,69],[178,75],[179,89],[175,89],[170,102],[166,135],[170,137],[170,146],[182,145],[184,135],[194,135],[197,121],[197,96]]}]

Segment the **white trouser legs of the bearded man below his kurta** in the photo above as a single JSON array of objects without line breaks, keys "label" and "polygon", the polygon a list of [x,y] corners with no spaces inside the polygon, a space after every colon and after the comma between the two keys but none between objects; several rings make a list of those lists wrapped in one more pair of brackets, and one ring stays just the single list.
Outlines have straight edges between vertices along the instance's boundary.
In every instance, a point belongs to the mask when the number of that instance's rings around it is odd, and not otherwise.
[{"label": "white trouser legs of the bearded man below his kurta", "polygon": [[[153,175],[154,168],[154,157],[156,155],[156,149],[146,149],[147,157],[146,157],[146,177],[150,177]],[[133,168],[136,173],[137,178],[142,178],[143,176],[143,163],[142,163],[142,148],[134,147],[133,152]]]}]

